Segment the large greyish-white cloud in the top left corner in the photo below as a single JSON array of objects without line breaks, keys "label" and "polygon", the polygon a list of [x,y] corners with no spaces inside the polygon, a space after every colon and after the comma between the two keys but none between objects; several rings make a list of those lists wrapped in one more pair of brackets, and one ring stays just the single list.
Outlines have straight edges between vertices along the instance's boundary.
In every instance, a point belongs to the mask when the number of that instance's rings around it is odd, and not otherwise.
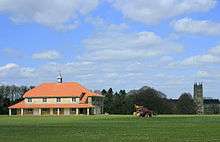
[{"label": "large greyish-white cloud in the top left corner", "polygon": [[36,22],[56,30],[77,27],[78,17],[96,8],[99,0],[1,0],[0,12],[16,23]]}]

